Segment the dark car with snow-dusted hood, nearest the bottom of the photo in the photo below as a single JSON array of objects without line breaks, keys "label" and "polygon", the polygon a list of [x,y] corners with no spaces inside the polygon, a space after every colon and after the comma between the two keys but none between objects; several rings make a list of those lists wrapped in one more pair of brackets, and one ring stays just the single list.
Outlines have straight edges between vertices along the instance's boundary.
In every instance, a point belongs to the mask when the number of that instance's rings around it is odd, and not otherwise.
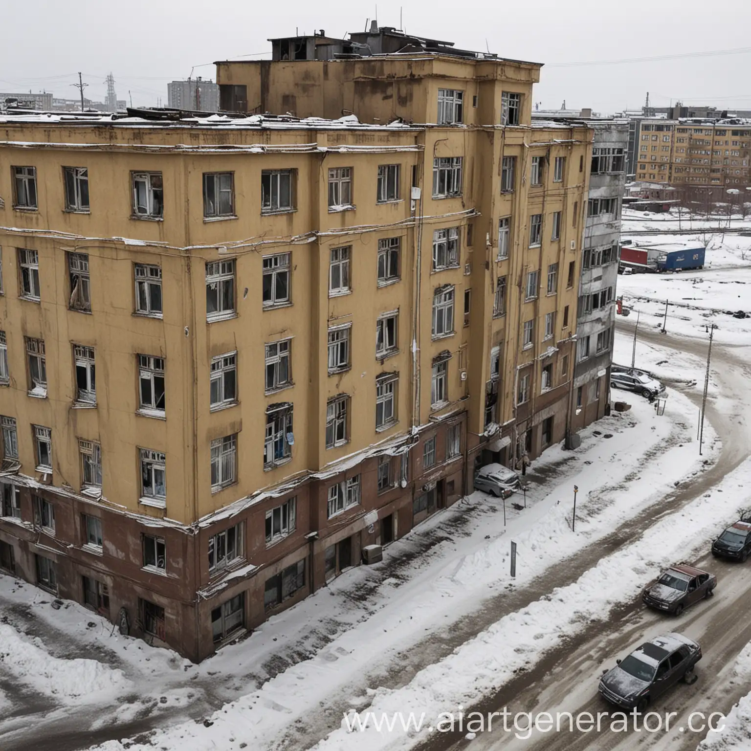
[{"label": "dark car with snow-dusted hood, nearest the bottom of the photo", "polygon": [[618,707],[644,712],[650,701],[683,679],[694,683],[694,665],[701,659],[701,647],[681,634],[665,634],[646,641],[628,657],[617,660],[605,671],[599,692]]}]

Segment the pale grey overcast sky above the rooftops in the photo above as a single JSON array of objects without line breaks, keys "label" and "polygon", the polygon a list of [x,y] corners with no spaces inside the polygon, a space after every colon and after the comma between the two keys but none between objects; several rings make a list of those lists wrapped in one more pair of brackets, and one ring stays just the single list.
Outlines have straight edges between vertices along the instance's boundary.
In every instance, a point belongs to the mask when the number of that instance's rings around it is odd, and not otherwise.
[{"label": "pale grey overcast sky above the rooftops", "polygon": [[[312,5],[318,11],[312,11]],[[544,63],[535,86],[541,108],[593,107],[614,112],[650,103],[751,109],[751,2],[714,12],[706,0],[431,0],[400,6],[379,2],[380,26],[446,41],[469,50]],[[115,9],[116,8],[116,9]],[[218,59],[270,57],[270,37],[325,29],[343,37],[362,31],[375,4],[287,0],[26,0],[3,3],[0,91],[52,91],[75,98],[77,71],[85,95],[103,101],[112,71],[119,99],[135,106],[167,104],[167,81],[216,79]],[[746,52],[696,56],[695,53]],[[602,61],[692,56],[653,62]],[[592,62],[587,65],[566,63]]]}]

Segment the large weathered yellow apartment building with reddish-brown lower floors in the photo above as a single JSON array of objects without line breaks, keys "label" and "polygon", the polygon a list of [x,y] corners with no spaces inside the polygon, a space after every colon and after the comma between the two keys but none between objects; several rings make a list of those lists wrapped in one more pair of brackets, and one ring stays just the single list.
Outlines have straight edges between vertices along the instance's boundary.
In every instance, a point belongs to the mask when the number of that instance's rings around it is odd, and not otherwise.
[{"label": "large weathered yellow apartment building with reddish-brown lower floors", "polygon": [[199,660],[563,438],[592,131],[411,57],[400,120],[0,116],[2,569]]}]

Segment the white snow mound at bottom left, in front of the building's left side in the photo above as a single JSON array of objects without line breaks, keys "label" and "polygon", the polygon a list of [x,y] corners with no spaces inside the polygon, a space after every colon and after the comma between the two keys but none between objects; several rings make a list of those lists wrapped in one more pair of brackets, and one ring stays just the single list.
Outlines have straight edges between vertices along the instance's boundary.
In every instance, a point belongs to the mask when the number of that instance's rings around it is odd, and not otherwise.
[{"label": "white snow mound at bottom left, in front of the building's left side", "polygon": [[40,639],[29,640],[5,623],[0,623],[0,670],[67,704],[86,701],[92,694],[122,691],[130,684],[122,670],[95,659],[53,657]]}]

